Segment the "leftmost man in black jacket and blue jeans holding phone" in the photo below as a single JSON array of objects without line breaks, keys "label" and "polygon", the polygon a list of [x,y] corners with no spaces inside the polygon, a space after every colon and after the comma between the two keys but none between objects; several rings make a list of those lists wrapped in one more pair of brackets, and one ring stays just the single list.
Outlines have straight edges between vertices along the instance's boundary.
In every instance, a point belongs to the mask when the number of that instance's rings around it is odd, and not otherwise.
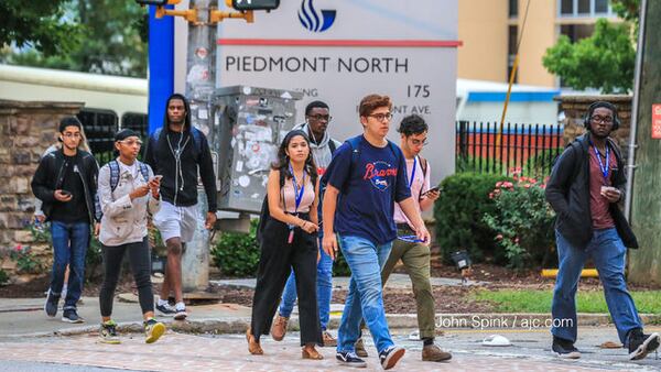
[{"label": "leftmost man in black jacket and blue jeans holding phone", "polygon": [[50,317],[57,314],[68,265],[62,316],[62,321],[66,322],[85,321],[78,316],[76,303],[83,293],[89,227],[98,223],[101,217],[96,197],[99,167],[90,153],[78,149],[83,140],[82,128],[75,117],[61,120],[62,149],[44,155],[32,178],[32,192],[43,201],[42,210],[51,221],[53,239],[53,271],[44,310]]}]

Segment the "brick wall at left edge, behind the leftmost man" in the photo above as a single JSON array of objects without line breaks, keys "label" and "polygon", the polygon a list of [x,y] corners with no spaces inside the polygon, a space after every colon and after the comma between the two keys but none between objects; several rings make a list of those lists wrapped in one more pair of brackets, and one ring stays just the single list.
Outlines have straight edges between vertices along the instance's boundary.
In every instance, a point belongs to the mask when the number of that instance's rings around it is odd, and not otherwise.
[{"label": "brick wall at left edge, behind the leftmost man", "polygon": [[[0,100],[0,267],[14,281],[15,263],[8,251],[18,244],[30,245],[45,264],[52,260],[50,248],[35,244],[26,226],[34,214],[32,175],[43,152],[55,142],[59,119],[76,114],[78,102],[25,102]],[[48,270],[44,270],[44,274]]]}]

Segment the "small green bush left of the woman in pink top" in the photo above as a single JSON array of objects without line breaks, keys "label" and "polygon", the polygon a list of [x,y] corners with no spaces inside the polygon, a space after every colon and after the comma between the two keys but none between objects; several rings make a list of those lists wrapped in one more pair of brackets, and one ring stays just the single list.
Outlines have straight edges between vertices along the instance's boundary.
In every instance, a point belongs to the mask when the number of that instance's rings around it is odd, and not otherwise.
[{"label": "small green bush left of the woman in pink top", "polygon": [[223,232],[212,249],[214,263],[229,276],[256,276],[260,249],[256,232],[258,220],[250,221],[249,233]]}]

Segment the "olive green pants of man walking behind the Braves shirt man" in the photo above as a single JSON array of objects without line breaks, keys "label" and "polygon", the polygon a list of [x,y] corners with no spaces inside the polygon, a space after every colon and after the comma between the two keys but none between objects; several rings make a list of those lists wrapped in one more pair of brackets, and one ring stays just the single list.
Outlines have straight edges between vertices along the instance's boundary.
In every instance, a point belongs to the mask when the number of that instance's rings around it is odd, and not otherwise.
[{"label": "olive green pants of man walking behind the Braves shirt man", "polygon": [[[412,233],[411,230],[398,229],[398,236],[400,237]],[[390,256],[381,271],[381,283],[386,285],[394,265],[402,260],[413,285],[421,339],[435,336],[434,295],[430,283],[430,256],[429,245],[395,239],[392,243]]]}]

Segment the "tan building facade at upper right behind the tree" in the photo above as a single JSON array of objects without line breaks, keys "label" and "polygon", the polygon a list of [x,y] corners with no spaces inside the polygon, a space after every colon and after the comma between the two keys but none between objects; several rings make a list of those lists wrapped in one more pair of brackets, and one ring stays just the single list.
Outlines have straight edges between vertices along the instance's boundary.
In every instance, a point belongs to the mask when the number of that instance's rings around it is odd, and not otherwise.
[{"label": "tan building facade at upper right behind the tree", "polygon": [[[459,1],[458,77],[508,81],[528,0]],[[578,41],[592,35],[600,18],[617,21],[609,0],[530,0],[519,46],[518,84],[559,87],[542,57],[560,35]]]}]

